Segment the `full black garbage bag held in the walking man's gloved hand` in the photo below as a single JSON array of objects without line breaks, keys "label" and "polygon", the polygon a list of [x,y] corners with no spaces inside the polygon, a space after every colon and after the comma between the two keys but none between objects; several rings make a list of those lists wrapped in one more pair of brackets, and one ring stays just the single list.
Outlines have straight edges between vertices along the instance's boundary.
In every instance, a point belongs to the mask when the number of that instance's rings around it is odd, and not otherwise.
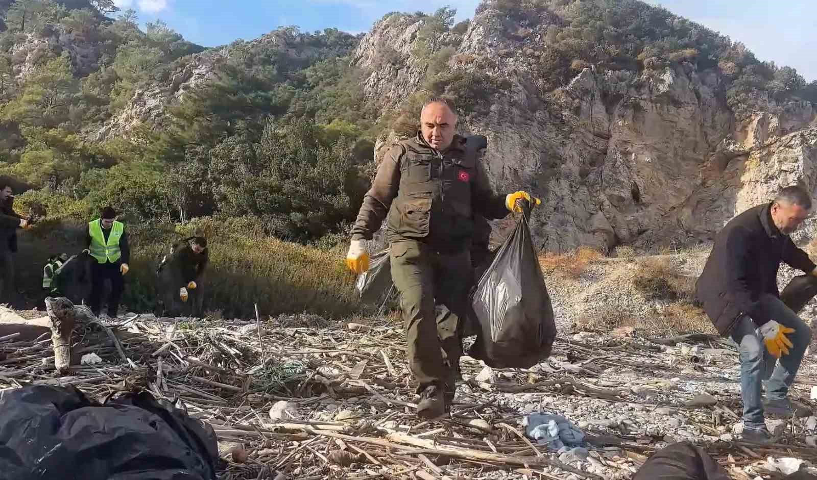
[{"label": "full black garbage bag held in the walking man's gloved hand", "polygon": [[471,306],[479,324],[472,357],[495,368],[529,368],[550,356],[556,322],[527,211],[480,278]]}]

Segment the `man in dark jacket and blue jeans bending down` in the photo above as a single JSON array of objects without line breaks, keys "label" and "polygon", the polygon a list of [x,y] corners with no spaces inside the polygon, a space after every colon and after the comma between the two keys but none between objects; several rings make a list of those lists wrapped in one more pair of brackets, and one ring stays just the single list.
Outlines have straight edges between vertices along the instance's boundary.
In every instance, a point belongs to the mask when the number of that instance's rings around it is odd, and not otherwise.
[{"label": "man in dark jacket and blue jeans bending down", "polygon": [[[764,411],[809,415],[788,400],[788,388],[800,368],[811,331],[780,300],[777,272],[782,261],[817,275],[806,252],[789,238],[806,220],[810,208],[809,193],[792,186],[781,190],[773,202],[730,220],[717,234],[695,287],[695,296],[717,331],[738,344],[743,437],[752,441],[771,440]],[[774,372],[770,372],[772,367]],[[761,380],[766,378],[764,404]]]}]

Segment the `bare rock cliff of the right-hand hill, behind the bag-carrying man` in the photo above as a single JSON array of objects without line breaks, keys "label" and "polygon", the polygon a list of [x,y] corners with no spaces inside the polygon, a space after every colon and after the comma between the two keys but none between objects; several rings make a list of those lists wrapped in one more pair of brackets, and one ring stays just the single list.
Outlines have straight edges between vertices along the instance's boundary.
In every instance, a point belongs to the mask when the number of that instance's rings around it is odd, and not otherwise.
[{"label": "bare rock cliff of the right-hand hill, behind the bag-carrying man", "polygon": [[[422,83],[426,73],[413,51],[424,21],[388,17],[360,42],[354,61],[371,72],[364,89],[382,109]],[[542,249],[706,241],[781,187],[817,188],[809,102],[780,103],[757,92],[739,117],[725,101],[730,80],[721,68],[690,62],[603,73],[589,66],[566,87],[547,91],[534,67],[548,48],[547,27],[542,21],[520,36],[507,16],[483,9],[449,60],[453,69],[493,64],[487,73],[508,86],[487,108],[462,115],[460,129],[488,136],[486,160],[498,189],[520,187],[542,198],[532,224]],[[378,59],[384,45],[396,51],[396,64]],[[800,235],[815,230],[810,220]]]}]

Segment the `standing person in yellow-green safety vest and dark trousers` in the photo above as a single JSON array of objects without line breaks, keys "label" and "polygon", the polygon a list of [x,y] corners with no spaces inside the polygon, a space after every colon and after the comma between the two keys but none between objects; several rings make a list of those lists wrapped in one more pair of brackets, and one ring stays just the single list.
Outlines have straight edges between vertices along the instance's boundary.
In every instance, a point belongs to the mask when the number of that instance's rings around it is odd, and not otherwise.
[{"label": "standing person in yellow-green safety vest and dark trousers", "polygon": [[88,224],[87,253],[96,259],[92,269],[92,289],[90,307],[99,316],[102,306],[102,292],[105,280],[110,280],[108,316],[116,318],[119,299],[125,289],[124,275],[127,273],[131,251],[127,245],[125,225],[116,219],[111,207],[102,209],[102,216]]}]

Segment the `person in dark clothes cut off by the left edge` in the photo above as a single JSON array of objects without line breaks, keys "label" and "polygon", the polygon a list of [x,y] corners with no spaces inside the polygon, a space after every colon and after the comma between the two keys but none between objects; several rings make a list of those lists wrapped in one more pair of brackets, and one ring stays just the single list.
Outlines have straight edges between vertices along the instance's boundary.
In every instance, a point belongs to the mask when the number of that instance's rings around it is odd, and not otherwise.
[{"label": "person in dark clothes cut off by the left edge", "polygon": [[28,229],[29,222],[13,208],[11,185],[0,181],[0,304],[15,304],[14,254],[17,252],[17,229]]}]

